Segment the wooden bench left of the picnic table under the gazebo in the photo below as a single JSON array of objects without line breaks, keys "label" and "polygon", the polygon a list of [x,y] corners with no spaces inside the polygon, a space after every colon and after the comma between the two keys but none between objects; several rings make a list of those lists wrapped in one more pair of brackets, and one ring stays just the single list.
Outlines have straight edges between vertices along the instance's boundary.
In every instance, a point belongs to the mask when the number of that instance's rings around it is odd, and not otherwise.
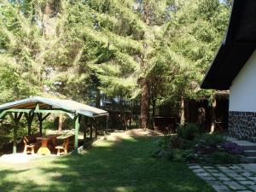
[{"label": "wooden bench left of the picnic table under the gazebo", "polygon": [[35,148],[39,148],[40,146],[40,143],[37,141],[37,137],[41,137],[39,132],[23,137],[23,143],[25,144],[23,154],[35,154]]}]

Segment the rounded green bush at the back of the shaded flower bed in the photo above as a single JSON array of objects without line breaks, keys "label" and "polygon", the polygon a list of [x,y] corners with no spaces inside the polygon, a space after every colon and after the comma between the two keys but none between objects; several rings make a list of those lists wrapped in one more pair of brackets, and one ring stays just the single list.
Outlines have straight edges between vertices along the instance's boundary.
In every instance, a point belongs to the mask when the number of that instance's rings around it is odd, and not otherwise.
[{"label": "rounded green bush at the back of the shaded flower bed", "polygon": [[177,137],[193,140],[199,134],[199,128],[196,124],[187,124],[177,128]]}]

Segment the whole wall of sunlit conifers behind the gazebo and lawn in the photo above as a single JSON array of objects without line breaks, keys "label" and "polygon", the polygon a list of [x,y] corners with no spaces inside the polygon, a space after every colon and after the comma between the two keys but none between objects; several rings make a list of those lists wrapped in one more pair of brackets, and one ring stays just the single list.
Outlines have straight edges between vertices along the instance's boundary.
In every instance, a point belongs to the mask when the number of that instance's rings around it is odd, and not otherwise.
[{"label": "whole wall of sunlit conifers behind the gazebo and lawn", "polygon": [[150,105],[211,95],[199,84],[229,14],[218,0],[2,0],[0,102],[140,97],[145,127]]}]

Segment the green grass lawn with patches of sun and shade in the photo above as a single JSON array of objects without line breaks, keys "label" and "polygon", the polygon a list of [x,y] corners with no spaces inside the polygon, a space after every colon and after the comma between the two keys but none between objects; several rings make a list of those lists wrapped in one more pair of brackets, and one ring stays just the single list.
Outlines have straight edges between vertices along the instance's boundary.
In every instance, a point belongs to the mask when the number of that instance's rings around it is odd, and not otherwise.
[{"label": "green grass lawn with patches of sun and shade", "polygon": [[157,137],[140,134],[113,133],[83,154],[1,163],[0,191],[214,191],[185,164],[148,157]]}]

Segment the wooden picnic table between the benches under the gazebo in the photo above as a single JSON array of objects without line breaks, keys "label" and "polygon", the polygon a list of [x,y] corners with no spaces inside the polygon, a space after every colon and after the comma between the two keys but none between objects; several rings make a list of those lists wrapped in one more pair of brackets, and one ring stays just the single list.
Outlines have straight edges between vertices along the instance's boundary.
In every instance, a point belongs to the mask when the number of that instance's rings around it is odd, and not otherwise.
[{"label": "wooden picnic table between the benches under the gazebo", "polygon": [[61,136],[61,134],[51,134],[48,136],[37,137],[37,140],[40,140],[42,143],[41,147],[38,149],[38,154],[50,154],[48,144],[49,142],[51,142],[54,149],[56,137],[59,137],[59,136]]}]

